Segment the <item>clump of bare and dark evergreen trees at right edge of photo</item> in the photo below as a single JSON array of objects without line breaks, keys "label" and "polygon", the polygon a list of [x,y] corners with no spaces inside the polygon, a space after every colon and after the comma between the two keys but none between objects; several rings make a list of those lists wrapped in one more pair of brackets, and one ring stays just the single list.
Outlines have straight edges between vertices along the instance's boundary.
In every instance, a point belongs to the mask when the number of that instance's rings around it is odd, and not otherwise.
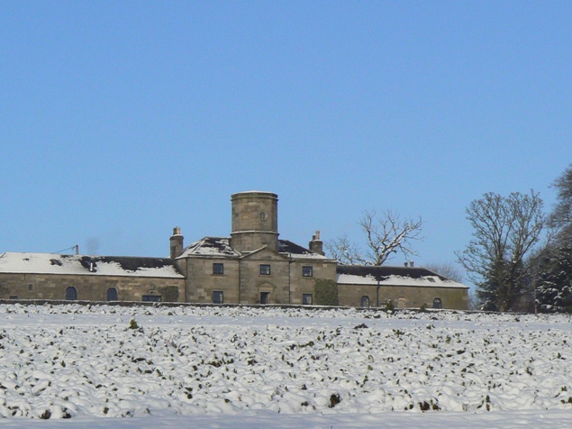
[{"label": "clump of bare and dark evergreen trees at right edge of photo", "polygon": [[481,309],[572,312],[572,164],[552,187],[548,213],[533,190],[489,192],[466,209],[473,238],[456,255]]}]

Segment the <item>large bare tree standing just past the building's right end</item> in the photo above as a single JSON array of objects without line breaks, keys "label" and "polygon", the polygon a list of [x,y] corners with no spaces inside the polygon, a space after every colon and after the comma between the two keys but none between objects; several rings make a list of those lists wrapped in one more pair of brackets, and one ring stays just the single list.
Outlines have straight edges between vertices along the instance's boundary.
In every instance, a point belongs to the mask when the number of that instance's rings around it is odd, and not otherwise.
[{"label": "large bare tree standing just past the building's right end", "polygon": [[534,258],[534,246],[547,222],[542,200],[531,190],[504,197],[489,192],[467,209],[473,239],[456,255],[478,287],[484,309],[507,311],[516,306]]}]

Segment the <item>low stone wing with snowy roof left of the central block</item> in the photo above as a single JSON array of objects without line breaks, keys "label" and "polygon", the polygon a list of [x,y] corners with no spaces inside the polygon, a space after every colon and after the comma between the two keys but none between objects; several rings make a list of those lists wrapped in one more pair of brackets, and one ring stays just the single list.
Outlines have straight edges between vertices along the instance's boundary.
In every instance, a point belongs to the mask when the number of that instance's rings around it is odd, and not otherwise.
[{"label": "low stone wing with snowy roof left of the central block", "polygon": [[184,301],[185,277],[168,258],[5,252],[0,298]]}]

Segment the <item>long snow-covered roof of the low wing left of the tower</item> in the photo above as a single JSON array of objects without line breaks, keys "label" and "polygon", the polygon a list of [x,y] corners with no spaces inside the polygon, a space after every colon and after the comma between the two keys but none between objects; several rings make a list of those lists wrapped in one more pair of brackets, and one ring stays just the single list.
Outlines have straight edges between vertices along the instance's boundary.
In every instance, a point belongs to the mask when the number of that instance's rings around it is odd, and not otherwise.
[{"label": "long snow-covered roof of the low wing left of the tower", "polygon": [[183,278],[168,258],[5,252],[0,273]]}]

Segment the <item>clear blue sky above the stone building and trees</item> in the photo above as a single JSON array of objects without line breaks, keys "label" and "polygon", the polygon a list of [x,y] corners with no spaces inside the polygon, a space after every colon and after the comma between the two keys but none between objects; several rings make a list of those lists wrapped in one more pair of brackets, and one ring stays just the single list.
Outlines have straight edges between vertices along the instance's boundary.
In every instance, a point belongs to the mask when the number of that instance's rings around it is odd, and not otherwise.
[{"label": "clear blue sky above the stone building and trees", "polygon": [[570,23],[570,2],[4,1],[0,251],[166,256],[257,189],[282,238],[359,241],[391,209],[423,218],[418,265],[454,262],[472,200],[554,202]]}]

